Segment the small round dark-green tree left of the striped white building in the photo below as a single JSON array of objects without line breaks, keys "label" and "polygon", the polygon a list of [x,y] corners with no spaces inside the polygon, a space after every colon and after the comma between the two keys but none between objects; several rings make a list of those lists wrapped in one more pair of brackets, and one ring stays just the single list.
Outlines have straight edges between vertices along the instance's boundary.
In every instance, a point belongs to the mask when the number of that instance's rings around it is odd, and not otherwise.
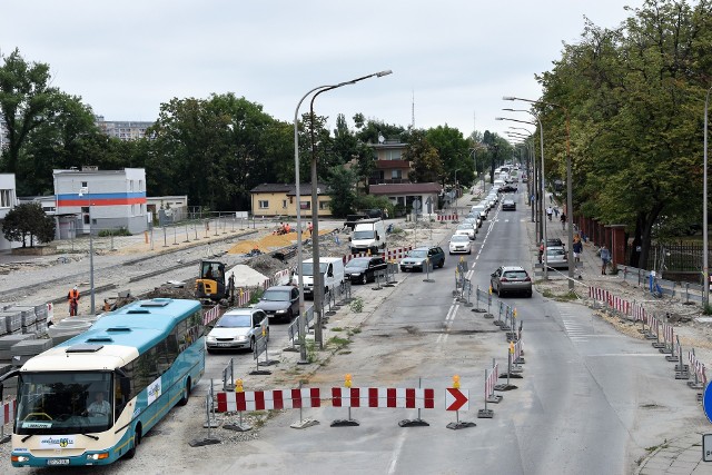
[{"label": "small round dark-green tree left of the striped white building", "polygon": [[42,211],[39,202],[18,205],[6,215],[2,220],[2,234],[10,241],[21,241],[27,247],[38,243],[49,243],[55,239],[55,220]]}]

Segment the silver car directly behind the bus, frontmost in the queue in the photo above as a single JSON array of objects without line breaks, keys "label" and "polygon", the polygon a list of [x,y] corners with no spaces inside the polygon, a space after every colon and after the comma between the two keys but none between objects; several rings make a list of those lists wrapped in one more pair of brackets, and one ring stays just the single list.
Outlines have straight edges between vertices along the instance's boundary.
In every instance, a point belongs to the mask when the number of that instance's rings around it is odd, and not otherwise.
[{"label": "silver car directly behind the bus, frontmost in the queue", "polygon": [[263,338],[269,340],[269,318],[260,308],[234,308],[227,310],[205,339],[208,353],[217,349],[250,349]]}]

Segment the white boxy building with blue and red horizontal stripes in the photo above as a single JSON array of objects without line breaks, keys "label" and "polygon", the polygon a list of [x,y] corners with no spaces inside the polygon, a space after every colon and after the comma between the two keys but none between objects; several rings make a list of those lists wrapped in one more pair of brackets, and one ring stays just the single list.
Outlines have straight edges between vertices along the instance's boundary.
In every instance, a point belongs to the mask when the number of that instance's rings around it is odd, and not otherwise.
[{"label": "white boxy building with blue and red horizontal stripes", "polygon": [[102,230],[148,229],[146,170],[52,170],[59,239]]}]

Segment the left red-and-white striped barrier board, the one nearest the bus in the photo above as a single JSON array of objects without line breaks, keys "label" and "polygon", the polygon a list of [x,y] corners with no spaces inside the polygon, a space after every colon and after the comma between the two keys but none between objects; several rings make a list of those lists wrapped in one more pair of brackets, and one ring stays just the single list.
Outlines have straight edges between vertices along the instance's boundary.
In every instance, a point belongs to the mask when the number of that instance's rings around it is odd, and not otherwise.
[{"label": "left red-and-white striped barrier board, the one nearest the bus", "polygon": [[244,393],[217,393],[219,413],[245,410],[299,409],[319,407],[322,393],[318,387],[303,389],[248,390]]}]

